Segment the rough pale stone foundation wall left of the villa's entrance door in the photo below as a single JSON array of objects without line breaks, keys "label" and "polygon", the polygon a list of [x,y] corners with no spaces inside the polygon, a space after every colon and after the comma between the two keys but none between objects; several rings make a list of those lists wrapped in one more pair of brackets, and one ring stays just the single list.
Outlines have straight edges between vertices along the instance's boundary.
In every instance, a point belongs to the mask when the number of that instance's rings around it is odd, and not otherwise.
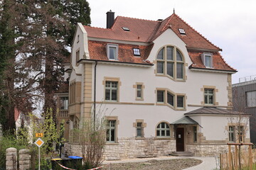
[{"label": "rough pale stone foundation wall left of the villa's entrance door", "polygon": [[[81,146],[65,144],[68,155],[81,156]],[[176,151],[176,140],[159,140],[154,137],[135,139],[119,138],[118,143],[105,145],[104,159],[118,160],[137,157],[159,157]]]}]

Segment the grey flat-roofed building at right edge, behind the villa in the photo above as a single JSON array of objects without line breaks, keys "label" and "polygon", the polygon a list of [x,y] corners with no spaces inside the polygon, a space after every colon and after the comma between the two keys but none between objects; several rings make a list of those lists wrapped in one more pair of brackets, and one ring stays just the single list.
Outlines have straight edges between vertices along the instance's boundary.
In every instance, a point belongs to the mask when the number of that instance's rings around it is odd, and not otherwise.
[{"label": "grey flat-roofed building at right edge, behind the villa", "polygon": [[250,138],[256,144],[256,75],[240,78],[233,84],[233,110],[250,113]]}]

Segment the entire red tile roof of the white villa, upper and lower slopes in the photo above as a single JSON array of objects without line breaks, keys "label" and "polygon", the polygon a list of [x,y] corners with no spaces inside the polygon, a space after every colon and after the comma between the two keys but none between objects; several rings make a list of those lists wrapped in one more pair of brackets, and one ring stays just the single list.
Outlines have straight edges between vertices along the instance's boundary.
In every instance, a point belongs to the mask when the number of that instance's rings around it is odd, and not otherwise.
[{"label": "entire red tile roof of the white villa, upper and lower slopes", "polygon": [[[128,18],[123,16],[117,16],[114,20],[112,28],[94,28],[90,26],[84,26],[87,31],[87,35],[90,38],[103,38],[109,40],[122,40],[131,42],[146,42],[151,44],[156,38],[159,37],[165,30],[171,29],[178,35],[183,42],[186,43],[188,49],[188,55],[191,57],[193,68],[206,67],[201,61],[200,54],[202,51],[208,51],[213,53],[213,69],[235,71],[230,67],[220,56],[217,51],[221,49],[212,42],[203,37],[195,29],[183,21],[176,13],[166,18],[164,21],[149,21],[137,18]],[[129,31],[125,31],[122,27],[129,28]],[[178,28],[185,30],[186,35],[179,33]],[[91,60],[108,60],[105,45],[107,42],[92,41],[88,42],[90,59]],[[136,57],[132,53],[132,47],[139,47],[142,56]],[[134,62],[140,64],[146,64],[145,61],[151,52],[153,45],[129,45],[129,42],[125,44],[119,43],[119,62]],[[195,50],[195,52],[191,52]],[[148,64],[148,63],[147,63]],[[190,67],[190,68],[191,68]]]}]

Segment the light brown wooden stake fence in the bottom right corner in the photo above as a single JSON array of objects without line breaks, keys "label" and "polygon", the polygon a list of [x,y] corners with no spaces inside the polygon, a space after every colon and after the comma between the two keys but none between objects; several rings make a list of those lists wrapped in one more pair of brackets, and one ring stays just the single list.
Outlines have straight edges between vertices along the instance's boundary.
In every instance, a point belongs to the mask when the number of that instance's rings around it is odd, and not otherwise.
[{"label": "light brown wooden stake fence in the bottom right corner", "polygon": [[228,153],[220,154],[222,170],[252,170],[256,169],[255,163],[256,149],[252,149],[252,143],[228,143]]}]

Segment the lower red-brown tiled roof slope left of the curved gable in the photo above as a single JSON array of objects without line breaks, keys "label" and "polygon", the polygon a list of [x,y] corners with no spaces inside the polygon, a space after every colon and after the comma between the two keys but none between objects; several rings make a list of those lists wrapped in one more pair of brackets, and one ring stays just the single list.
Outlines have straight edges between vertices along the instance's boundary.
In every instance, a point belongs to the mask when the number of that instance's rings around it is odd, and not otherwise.
[{"label": "lower red-brown tiled roof slope left of the curved gable", "polygon": [[[111,42],[101,42],[101,41],[88,41],[89,53],[91,60],[103,60],[107,61],[106,45]],[[134,56],[132,48],[139,48],[141,56]],[[127,45],[118,44],[118,62],[132,62],[140,64],[151,64],[146,61],[149,57],[149,53],[153,45]]]}]

